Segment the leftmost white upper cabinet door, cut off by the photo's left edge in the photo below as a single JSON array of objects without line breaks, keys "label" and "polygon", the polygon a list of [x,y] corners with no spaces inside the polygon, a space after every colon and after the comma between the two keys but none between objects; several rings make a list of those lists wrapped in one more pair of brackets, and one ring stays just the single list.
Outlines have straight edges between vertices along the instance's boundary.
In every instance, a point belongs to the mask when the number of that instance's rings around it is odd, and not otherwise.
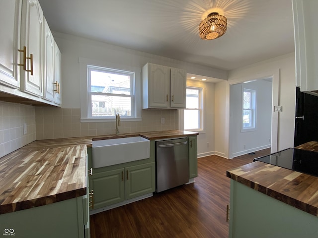
[{"label": "leftmost white upper cabinet door, cut off by the photo's left edge", "polygon": [[[0,2],[0,83],[19,88],[21,0]],[[21,57],[21,59],[23,59]]]}]

